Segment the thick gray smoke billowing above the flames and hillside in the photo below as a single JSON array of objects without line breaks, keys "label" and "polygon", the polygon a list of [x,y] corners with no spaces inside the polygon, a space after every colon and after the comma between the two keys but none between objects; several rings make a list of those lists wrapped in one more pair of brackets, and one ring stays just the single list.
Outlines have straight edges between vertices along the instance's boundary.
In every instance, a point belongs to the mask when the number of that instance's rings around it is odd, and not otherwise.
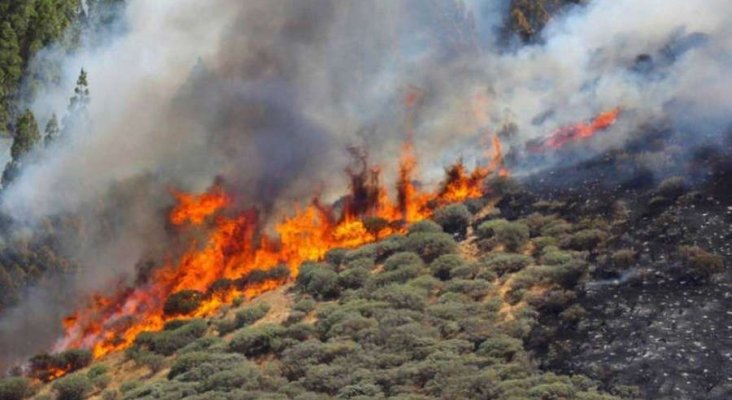
[{"label": "thick gray smoke billowing above the flames and hillside", "polygon": [[4,313],[0,359],[47,349],[69,299],[130,282],[168,245],[170,186],[201,191],[220,178],[242,204],[277,210],[341,191],[348,145],[394,166],[410,91],[423,95],[427,180],[460,155],[478,159],[481,135],[509,123],[517,151],[614,107],[621,119],[594,150],[644,123],[715,137],[731,122],[726,0],[595,0],[526,46],[498,43],[507,3],[130,0],[124,33],[70,56],[44,51],[63,80],[35,98],[36,115],[62,113],[84,67],[91,125],[27,166],[3,208],[31,227],[80,215],[89,239],[67,243],[79,274]]}]

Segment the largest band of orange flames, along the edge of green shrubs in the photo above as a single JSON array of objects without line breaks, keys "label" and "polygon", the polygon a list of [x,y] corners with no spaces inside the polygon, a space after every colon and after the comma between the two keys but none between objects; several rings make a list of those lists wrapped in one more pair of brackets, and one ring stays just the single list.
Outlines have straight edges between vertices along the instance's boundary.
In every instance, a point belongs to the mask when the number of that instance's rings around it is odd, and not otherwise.
[{"label": "largest band of orange flames, along the edge of green shrubs", "polygon": [[[275,289],[288,275],[297,276],[301,263],[321,260],[330,249],[354,248],[403,232],[406,223],[428,217],[431,207],[479,197],[487,177],[505,174],[497,137],[492,147],[489,166],[468,171],[458,162],[447,169],[439,190],[427,192],[414,183],[417,161],[409,136],[399,161],[396,201],[382,185],[379,169],[354,150],[359,168],[348,170],[345,205],[324,206],[315,198],[282,218],[274,227],[276,235],[264,231],[256,210],[222,215],[231,199],[220,186],[201,195],[173,190],[177,205],[170,222],[180,230],[205,230],[205,242],[194,240],[176,263],[155,269],[144,285],[95,296],[85,309],[64,319],[65,335],[56,350],[90,348],[99,358],[127,348],[141,332],[160,330],[171,319],[210,316],[236,297],[251,299]],[[283,268],[289,274],[283,275]],[[166,299],[184,290],[200,293],[200,306],[187,315],[166,314]]]}]

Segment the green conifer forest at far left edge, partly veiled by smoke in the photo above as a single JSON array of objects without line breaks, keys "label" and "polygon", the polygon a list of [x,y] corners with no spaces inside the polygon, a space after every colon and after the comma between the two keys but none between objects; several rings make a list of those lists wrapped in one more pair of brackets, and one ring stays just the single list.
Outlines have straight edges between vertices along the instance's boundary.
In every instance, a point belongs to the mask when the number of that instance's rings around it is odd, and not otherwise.
[{"label": "green conifer forest at far left edge, partly veiled by smoke", "polygon": [[[58,60],[34,56],[49,45],[73,52],[82,40],[92,40],[114,23],[110,10],[123,0],[9,0],[0,3],[0,136],[10,135],[10,162],[2,171],[7,187],[24,165],[37,161],[43,151],[82,122],[89,103],[86,72],[81,71],[67,109],[48,121],[38,121],[27,109],[35,91],[59,83]],[[86,11],[85,11],[86,10]],[[47,149],[47,150],[44,150]],[[47,272],[66,273],[72,263],[60,252],[60,240],[73,236],[78,225],[73,216],[49,218],[32,233],[11,230],[10,216],[0,215],[0,311],[14,304],[22,291]]]}]

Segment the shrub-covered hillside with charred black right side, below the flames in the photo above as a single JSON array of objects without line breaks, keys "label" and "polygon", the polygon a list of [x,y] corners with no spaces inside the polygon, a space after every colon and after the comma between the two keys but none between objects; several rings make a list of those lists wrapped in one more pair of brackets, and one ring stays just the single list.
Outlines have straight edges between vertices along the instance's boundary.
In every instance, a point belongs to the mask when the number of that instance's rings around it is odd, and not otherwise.
[{"label": "shrub-covered hillside with charred black right side, below the flames", "polygon": [[[61,399],[731,393],[721,333],[730,211],[698,191],[713,187],[670,178],[602,199],[499,188],[500,201],[448,206],[404,236],[332,250],[292,283],[30,387]],[[701,358],[673,362],[684,353]]]}]

